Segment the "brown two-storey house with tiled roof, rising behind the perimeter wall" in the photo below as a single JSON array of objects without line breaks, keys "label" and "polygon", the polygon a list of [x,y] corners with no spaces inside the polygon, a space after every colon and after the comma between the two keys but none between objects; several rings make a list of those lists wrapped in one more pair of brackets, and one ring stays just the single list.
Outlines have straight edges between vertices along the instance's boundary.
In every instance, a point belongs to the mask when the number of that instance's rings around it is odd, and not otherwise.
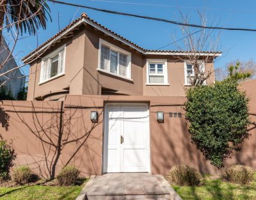
[{"label": "brown two-storey house with tiled roof, rising behind the perimeter wall", "polygon": [[[145,50],[86,14],[23,61],[31,66],[28,100],[63,100],[66,94],[184,96],[188,73],[193,76],[186,52]],[[214,70],[213,62],[204,65]],[[214,82],[213,73],[207,82]]]}]

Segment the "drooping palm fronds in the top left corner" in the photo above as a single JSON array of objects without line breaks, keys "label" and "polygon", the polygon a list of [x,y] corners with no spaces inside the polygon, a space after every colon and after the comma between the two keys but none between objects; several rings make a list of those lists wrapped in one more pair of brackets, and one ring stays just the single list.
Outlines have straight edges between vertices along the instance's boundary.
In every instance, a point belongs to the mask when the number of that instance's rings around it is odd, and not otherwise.
[{"label": "drooping palm fronds in the top left corner", "polygon": [[20,34],[35,34],[36,29],[46,28],[50,8],[45,0],[0,0],[0,41],[3,29],[15,27]]}]

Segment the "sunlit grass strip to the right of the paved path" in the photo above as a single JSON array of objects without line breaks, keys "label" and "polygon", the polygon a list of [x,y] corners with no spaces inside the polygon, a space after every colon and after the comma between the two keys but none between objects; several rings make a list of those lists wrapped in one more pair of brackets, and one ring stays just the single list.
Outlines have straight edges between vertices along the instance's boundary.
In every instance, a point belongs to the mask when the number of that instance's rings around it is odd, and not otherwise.
[{"label": "sunlit grass strip to the right of the paved path", "polygon": [[256,182],[250,185],[238,185],[221,179],[205,178],[205,184],[198,187],[177,186],[171,184],[182,199],[256,199]]}]

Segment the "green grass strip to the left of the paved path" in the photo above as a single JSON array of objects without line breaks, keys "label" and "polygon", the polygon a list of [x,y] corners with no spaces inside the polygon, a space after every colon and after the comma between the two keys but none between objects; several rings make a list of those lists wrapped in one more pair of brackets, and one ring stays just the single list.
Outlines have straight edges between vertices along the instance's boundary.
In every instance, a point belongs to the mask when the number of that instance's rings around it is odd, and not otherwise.
[{"label": "green grass strip to the left of the paved path", "polygon": [[[83,184],[84,185],[84,184]],[[0,187],[0,199],[76,199],[83,185],[24,185],[19,187]]]}]

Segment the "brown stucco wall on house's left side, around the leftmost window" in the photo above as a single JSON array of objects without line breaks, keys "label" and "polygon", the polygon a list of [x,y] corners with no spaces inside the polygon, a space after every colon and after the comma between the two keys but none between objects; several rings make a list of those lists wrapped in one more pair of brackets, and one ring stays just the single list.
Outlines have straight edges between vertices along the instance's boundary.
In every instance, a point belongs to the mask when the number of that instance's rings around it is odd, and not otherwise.
[{"label": "brown stucco wall on house's left side, around the leftmost window", "polygon": [[[56,92],[67,93],[68,88],[70,90],[69,94],[83,93],[84,29],[78,30],[72,39],[65,39],[57,44],[45,51],[42,57],[54,51],[56,48],[66,45],[65,75],[39,85],[41,59],[33,62],[29,71],[28,101]],[[54,99],[56,96],[52,96],[51,98]]]}]

